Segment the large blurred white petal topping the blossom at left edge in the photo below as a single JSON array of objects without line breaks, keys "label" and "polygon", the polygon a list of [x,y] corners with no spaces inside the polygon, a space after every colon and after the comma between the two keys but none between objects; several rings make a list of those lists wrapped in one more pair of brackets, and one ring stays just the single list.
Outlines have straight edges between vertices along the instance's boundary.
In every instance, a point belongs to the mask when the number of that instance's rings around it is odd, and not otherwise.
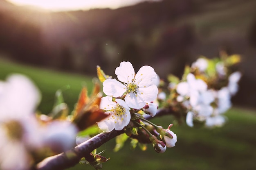
[{"label": "large blurred white petal topping the blossom at left edge", "polygon": [[40,100],[40,93],[29,78],[13,74],[4,84],[1,85],[0,119],[19,119],[34,113]]}]

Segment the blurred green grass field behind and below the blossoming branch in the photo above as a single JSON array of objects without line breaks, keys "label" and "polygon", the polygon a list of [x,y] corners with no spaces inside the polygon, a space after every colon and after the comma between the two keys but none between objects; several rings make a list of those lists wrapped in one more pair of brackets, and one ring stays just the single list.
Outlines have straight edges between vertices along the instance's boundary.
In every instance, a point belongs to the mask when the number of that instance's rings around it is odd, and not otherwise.
[{"label": "blurred green grass field behind and below the blossoming branch", "polygon": [[[39,110],[48,113],[52,109],[54,93],[63,89],[65,101],[74,106],[81,87],[92,89],[92,78],[87,76],[54,72],[9,63],[0,60],[0,79],[10,73],[29,76],[42,93]],[[229,121],[218,129],[195,129],[186,124],[176,125],[177,143],[165,153],[156,153],[151,145],[148,150],[131,150],[129,142],[119,152],[113,152],[115,140],[104,144],[98,152],[110,160],[103,164],[104,170],[255,170],[256,169],[256,111],[232,108],[226,114]],[[171,116],[155,118],[156,124],[166,127],[173,122]],[[69,170],[94,170],[88,165],[77,165]]]}]

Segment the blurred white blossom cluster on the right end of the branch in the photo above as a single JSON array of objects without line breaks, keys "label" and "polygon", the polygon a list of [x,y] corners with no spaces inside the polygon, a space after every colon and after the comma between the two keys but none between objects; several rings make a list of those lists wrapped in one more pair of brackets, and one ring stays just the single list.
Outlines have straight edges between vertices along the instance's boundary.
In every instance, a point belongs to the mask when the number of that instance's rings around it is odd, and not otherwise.
[{"label": "blurred white blossom cluster on the right end of the branch", "polygon": [[[231,97],[238,91],[240,78],[241,73],[230,72],[225,60],[213,63],[199,58],[192,63],[190,72],[179,83],[170,86],[177,93],[174,100],[186,113],[186,124],[191,127],[194,123],[222,126],[226,121],[223,113],[231,107]],[[223,85],[216,87],[216,82],[219,85],[220,81]]]}]

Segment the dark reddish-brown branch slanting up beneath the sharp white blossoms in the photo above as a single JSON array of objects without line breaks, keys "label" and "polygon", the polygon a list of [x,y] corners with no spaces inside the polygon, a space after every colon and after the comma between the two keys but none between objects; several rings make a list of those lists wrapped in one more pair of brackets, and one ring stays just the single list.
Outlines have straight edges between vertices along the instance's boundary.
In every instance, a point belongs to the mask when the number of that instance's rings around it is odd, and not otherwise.
[{"label": "dark reddish-brown branch slanting up beneath the sharp white blossoms", "polygon": [[[173,114],[170,108],[168,109],[159,109],[156,116],[163,116],[167,114]],[[156,117],[155,116],[155,117]],[[146,115],[146,119],[152,117]],[[124,130],[116,131],[113,130],[108,133],[100,133],[91,139],[79,144],[72,150],[68,150],[65,153],[61,153],[52,157],[48,157],[37,164],[35,170],[63,170],[75,166],[82,157],[87,157],[94,149],[99,148],[104,143],[108,142],[110,139],[124,133]]]}]

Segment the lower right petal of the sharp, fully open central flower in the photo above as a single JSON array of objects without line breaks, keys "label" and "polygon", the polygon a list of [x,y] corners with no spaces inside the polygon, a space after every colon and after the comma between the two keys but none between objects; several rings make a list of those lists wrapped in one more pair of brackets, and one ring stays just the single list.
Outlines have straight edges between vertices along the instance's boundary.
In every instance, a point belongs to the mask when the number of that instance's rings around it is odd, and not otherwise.
[{"label": "lower right petal of the sharp, fully open central flower", "polygon": [[140,87],[137,90],[137,95],[145,102],[152,102],[157,98],[158,88],[156,85],[150,85],[148,87]]}]

